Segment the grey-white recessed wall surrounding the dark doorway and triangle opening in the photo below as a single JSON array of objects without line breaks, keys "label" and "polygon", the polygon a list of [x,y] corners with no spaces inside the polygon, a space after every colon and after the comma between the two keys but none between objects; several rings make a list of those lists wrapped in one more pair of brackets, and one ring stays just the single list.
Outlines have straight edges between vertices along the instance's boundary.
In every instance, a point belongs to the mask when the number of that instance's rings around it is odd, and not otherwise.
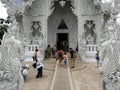
[{"label": "grey-white recessed wall surrounding the dark doorway and triangle opening", "polygon": [[[68,29],[58,30],[58,26],[62,19],[65,21]],[[56,33],[68,33],[69,34],[69,47],[76,48],[78,42],[78,29],[77,29],[77,18],[72,13],[70,5],[66,4],[64,8],[60,7],[59,4],[55,5],[55,10],[48,20],[48,44],[53,46],[56,44]]]}]

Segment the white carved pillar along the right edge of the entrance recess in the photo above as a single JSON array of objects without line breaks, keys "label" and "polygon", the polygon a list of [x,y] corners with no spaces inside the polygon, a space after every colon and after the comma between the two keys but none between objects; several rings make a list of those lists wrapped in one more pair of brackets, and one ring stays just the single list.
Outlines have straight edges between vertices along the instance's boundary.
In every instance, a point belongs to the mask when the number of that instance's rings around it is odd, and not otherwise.
[{"label": "white carved pillar along the right edge of the entrance recess", "polygon": [[72,2],[72,5],[74,8],[72,9],[72,12],[74,13],[75,16],[77,16],[77,21],[78,21],[78,53],[80,54],[80,56],[82,56],[81,58],[83,59],[85,57],[85,48],[84,48],[84,40],[82,38],[83,36],[83,22],[84,20],[82,19],[83,17],[81,16],[81,11],[82,11],[82,0],[75,0],[74,2]]}]

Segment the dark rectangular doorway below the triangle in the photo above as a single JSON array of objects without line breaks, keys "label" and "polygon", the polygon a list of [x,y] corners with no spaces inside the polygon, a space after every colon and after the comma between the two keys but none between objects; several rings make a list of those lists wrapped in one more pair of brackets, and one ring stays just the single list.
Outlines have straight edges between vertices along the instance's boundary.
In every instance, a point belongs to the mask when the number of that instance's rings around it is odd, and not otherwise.
[{"label": "dark rectangular doorway below the triangle", "polygon": [[69,41],[68,41],[68,33],[57,33],[57,49],[68,51]]}]

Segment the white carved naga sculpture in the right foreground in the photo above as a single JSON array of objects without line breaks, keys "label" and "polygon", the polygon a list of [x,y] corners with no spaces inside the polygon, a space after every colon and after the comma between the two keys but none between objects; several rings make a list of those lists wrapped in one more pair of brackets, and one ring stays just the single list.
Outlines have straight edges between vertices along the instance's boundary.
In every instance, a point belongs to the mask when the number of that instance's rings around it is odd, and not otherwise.
[{"label": "white carved naga sculpture in the right foreground", "polygon": [[[112,27],[114,22],[110,22]],[[120,90],[120,72],[118,71],[119,41],[115,28],[109,28],[109,40],[101,43],[102,46],[102,90]]]}]

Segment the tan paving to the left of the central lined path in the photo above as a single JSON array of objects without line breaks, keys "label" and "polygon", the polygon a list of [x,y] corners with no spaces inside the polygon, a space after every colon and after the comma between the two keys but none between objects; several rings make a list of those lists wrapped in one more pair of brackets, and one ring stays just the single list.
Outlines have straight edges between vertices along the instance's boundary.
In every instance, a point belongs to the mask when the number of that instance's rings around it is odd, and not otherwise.
[{"label": "tan paving to the left of the central lined path", "polygon": [[53,80],[56,61],[49,59],[44,61],[43,77],[36,79],[36,69],[32,67],[33,62],[25,62],[30,65],[28,80],[24,84],[24,90],[50,90]]}]

